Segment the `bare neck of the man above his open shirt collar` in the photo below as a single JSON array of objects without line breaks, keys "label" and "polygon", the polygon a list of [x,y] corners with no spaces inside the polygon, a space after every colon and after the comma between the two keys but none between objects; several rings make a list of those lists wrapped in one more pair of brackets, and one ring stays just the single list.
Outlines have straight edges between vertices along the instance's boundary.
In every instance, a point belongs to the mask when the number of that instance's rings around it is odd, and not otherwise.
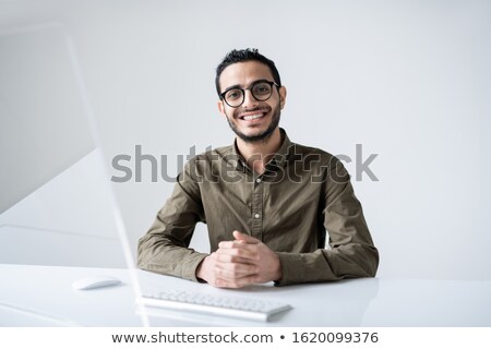
[{"label": "bare neck of the man above his open shirt collar", "polygon": [[254,143],[246,142],[237,137],[237,147],[240,155],[246,159],[248,166],[258,173],[263,173],[266,164],[278,152],[282,146],[282,134],[279,128],[271,134],[267,140]]}]

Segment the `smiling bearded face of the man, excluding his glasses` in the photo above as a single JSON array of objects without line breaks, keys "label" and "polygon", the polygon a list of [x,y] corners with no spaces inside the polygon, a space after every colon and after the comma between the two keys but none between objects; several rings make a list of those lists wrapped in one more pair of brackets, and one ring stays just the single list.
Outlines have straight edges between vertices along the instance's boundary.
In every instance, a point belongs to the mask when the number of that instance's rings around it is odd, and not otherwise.
[{"label": "smiling bearded face of the man, excluding his glasses", "polygon": [[[247,61],[228,65],[219,77],[220,92],[231,86],[248,88],[258,81],[273,82],[273,74],[266,64]],[[220,113],[227,118],[232,131],[246,142],[267,140],[278,127],[280,111],[285,105],[286,89],[273,86],[267,100],[260,101],[246,89],[243,104],[237,108],[228,106],[225,100],[218,101]]]}]

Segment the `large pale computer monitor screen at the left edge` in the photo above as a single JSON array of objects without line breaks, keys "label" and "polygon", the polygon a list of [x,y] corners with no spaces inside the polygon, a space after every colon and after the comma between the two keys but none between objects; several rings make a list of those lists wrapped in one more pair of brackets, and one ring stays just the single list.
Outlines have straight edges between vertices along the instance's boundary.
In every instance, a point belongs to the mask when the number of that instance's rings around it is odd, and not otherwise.
[{"label": "large pale computer monitor screen at the left edge", "polygon": [[61,25],[0,32],[0,263],[125,266],[82,76]]}]

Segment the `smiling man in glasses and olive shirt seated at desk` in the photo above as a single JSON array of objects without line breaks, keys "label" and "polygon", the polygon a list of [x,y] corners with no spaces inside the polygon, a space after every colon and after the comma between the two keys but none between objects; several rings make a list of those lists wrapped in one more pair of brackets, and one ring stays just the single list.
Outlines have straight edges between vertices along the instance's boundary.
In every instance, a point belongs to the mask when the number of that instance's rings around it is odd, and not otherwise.
[{"label": "smiling man in glasses and olive shirt seated at desk", "polygon": [[[274,62],[232,50],[215,83],[236,141],[187,164],[139,267],[224,288],[373,277],[379,254],[343,164],[278,127],[287,92]],[[199,221],[211,254],[188,249]]]}]

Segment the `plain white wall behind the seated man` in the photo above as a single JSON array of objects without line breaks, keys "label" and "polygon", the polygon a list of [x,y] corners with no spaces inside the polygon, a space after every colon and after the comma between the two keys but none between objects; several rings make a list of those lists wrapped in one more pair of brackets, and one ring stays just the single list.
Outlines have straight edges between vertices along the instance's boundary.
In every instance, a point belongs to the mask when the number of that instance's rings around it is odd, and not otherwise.
[{"label": "plain white wall behind the seated man", "polygon": [[[380,277],[491,279],[489,1],[0,7],[2,27],[67,27],[108,164],[134,156],[136,144],[169,159],[230,144],[214,69],[232,48],[259,48],[288,88],[282,125],[291,140],[351,157],[356,144],[364,158],[379,154],[370,168],[380,181],[354,184],[381,252]],[[176,173],[175,160],[169,167]],[[135,248],[172,184],[146,177],[115,188]]]}]

